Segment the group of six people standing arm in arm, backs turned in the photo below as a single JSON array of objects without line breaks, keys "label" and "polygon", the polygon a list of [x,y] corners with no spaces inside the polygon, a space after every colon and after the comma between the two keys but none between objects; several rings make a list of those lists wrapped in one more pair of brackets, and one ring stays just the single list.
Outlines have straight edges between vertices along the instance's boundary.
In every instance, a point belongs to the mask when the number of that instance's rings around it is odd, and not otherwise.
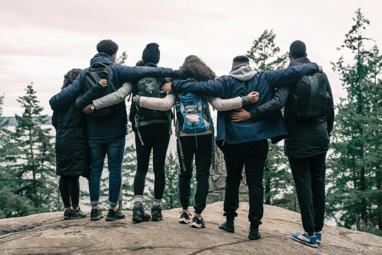
[{"label": "group of six people standing arm in arm, backs turned", "polygon": [[[304,233],[292,238],[317,247],[325,208],[325,156],[334,122],[333,96],[322,67],[307,59],[306,46],[290,46],[290,64],[285,69],[256,72],[246,56],[233,59],[228,75],[216,77],[200,58],[190,55],[179,70],[158,67],[160,50],[149,43],[135,67],[116,64],[118,45],[111,40],[97,44],[91,67],[72,69],[64,76],[62,90],[49,103],[57,130],[57,175],[65,206],[65,219],[86,217],[79,207],[80,175],[88,178],[92,210],[90,220],[104,215],[99,208],[100,184],[107,155],[109,204],[106,220],[125,215],[118,209],[121,166],[127,134],[126,97],[133,96],[129,120],[135,132],[137,171],[134,177],[132,220],[162,220],[161,202],[165,189],[165,157],[175,118],[180,163],[179,191],[182,206],[179,223],[204,228],[201,216],[206,206],[211,164],[214,165],[215,127],[210,106],[218,111],[216,145],[224,154],[227,176],[224,197],[226,221],[219,228],[233,233],[238,216],[242,170],[249,189],[249,239],[259,239],[263,215],[263,169],[268,154],[267,139],[284,142],[295,180]],[[94,76],[96,72],[96,76]],[[106,78],[100,73],[106,73]],[[328,106],[324,114],[302,118],[294,114],[296,84],[303,77],[312,83],[309,97],[321,89],[323,77]],[[100,74],[100,75],[99,75]],[[98,76],[97,76],[98,75]],[[96,77],[96,78],[94,78]],[[98,78],[97,78],[98,77]],[[94,80],[93,85],[91,81]],[[319,82],[317,82],[319,80]],[[321,93],[321,92],[320,92]],[[299,96],[299,95],[298,95]],[[317,101],[310,100],[307,115]],[[172,108],[175,106],[175,111]],[[281,108],[284,109],[284,116]],[[313,109],[313,110],[312,110]],[[312,116],[316,116],[313,115]],[[154,201],[151,215],[142,204],[150,155],[153,153]],[[195,157],[197,189],[194,210],[189,211],[191,178]],[[191,219],[192,217],[192,219]]]}]

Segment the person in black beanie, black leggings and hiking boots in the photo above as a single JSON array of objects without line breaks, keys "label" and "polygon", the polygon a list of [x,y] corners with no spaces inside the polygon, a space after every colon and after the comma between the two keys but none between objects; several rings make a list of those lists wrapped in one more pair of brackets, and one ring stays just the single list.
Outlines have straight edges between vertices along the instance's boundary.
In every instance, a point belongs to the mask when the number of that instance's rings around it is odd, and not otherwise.
[{"label": "person in black beanie, black leggings and hiking boots", "polygon": [[[157,43],[149,43],[142,52],[142,60],[138,61],[136,66],[157,67],[161,57],[161,51]],[[133,97],[139,95],[138,84],[151,83],[163,85],[165,80],[153,78],[151,81],[139,80],[133,81]],[[149,87],[147,87],[149,88]],[[163,95],[165,96],[165,95]],[[135,144],[137,151],[137,171],[134,177],[134,207],[133,221],[150,220],[150,214],[143,211],[143,191],[146,181],[146,174],[149,168],[150,154],[153,151],[153,171],[154,171],[154,204],[151,207],[151,220],[160,221],[162,219],[161,201],[165,187],[164,166],[168,144],[170,142],[171,129],[171,110],[163,111],[163,117],[154,119],[144,118],[145,109],[132,105],[130,108],[129,119],[135,132]]]}]

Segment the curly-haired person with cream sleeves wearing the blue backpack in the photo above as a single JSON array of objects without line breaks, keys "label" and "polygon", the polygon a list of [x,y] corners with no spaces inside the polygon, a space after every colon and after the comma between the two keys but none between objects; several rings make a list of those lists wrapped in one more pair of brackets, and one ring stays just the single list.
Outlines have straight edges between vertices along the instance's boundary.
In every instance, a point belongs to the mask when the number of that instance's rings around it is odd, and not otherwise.
[{"label": "curly-haired person with cream sleeves wearing the blue backpack", "polygon": [[[186,75],[188,75],[191,80],[196,81],[208,81],[211,79],[215,79],[215,72],[211,70],[211,68],[206,65],[200,58],[195,55],[188,56],[180,70],[183,71]],[[133,99],[133,104],[136,106],[152,109],[152,110],[170,110],[174,104],[175,100],[178,97],[173,92],[170,92],[164,98],[152,98],[152,97],[143,97],[136,96]],[[241,108],[241,106],[245,104],[255,103],[259,99],[259,94],[255,92],[251,92],[248,96],[245,97],[236,97],[233,99],[222,100],[216,97],[207,97],[202,96],[206,104],[206,114],[203,114],[204,122],[209,123],[211,119],[209,104],[213,106],[213,108],[221,111],[232,110],[236,108]],[[133,107],[132,107],[133,108]],[[179,192],[180,192],[180,200],[182,206],[182,213],[179,219],[179,223],[188,224],[190,222],[190,216],[192,214],[189,212],[188,206],[190,205],[191,198],[191,178],[193,171],[193,161],[195,156],[195,166],[196,166],[196,180],[197,190],[195,194],[195,215],[191,223],[191,227],[194,228],[204,228],[205,222],[201,216],[205,205],[206,198],[209,189],[208,178],[210,175],[210,167],[213,160],[213,153],[215,153],[213,149],[213,144],[215,140],[213,137],[213,125],[209,127],[209,129],[202,133],[197,134],[189,134],[181,130],[180,128],[179,118],[176,120],[176,135],[177,139],[177,151],[179,162],[181,165],[181,173],[179,174]],[[137,147],[138,147],[137,143]],[[167,148],[163,148],[164,152],[166,152]],[[181,154],[184,156],[184,166],[181,160]],[[165,155],[165,154],[164,154]],[[138,157],[138,150],[137,150]],[[164,166],[163,166],[163,174],[164,174]],[[137,176],[137,175],[136,175]],[[135,184],[135,183],[134,183]],[[134,186],[135,189],[135,186]]]}]

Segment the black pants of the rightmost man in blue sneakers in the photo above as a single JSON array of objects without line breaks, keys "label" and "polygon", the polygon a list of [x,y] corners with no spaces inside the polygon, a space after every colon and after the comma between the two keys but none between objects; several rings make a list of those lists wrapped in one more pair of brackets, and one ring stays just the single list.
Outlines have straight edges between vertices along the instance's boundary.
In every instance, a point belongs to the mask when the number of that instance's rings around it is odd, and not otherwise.
[{"label": "black pants of the rightmost man in blue sneakers", "polygon": [[320,232],[325,214],[326,152],[306,158],[288,158],[296,185],[302,227],[305,232]]}]

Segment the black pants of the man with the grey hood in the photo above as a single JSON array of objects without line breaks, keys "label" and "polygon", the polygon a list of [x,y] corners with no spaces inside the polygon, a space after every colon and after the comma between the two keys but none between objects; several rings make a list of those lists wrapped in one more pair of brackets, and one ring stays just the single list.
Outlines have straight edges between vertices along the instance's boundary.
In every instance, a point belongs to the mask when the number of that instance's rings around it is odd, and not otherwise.
[{"label": "black pants of the man with the grey hood", "polygon": [[[220,143],[219,143],[220,142]],[[261,140],[242,144],[218,146],[224,153],[227,177],[225,179],[224,216],[233,220],[238,214],[239,187],[242,180],[242,170],[245,167],[245,176],[249,189],[249,214],[248,219],[255,225],[261,225],[263,214],[264,191],[262,176],[268,154],[268,141]]]}]

